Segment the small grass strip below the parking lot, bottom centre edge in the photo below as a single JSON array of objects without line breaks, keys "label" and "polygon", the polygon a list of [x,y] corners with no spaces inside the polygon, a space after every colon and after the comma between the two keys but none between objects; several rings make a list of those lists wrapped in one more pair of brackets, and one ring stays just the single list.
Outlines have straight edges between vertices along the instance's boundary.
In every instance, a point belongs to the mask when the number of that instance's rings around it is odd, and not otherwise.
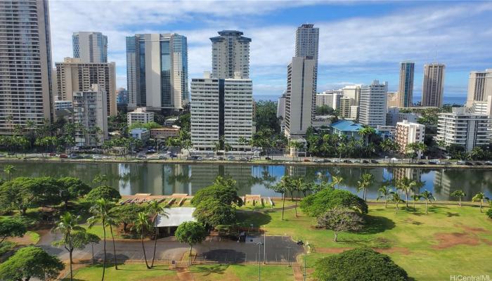
[{"label": "small grass strip below the parking lot, bottom centre edge", "polygon": [[[192,266],[190,273],[195,280],[240,280],[251,281],[258,278],[258,266],[253,265],[207,265]],[[294,280],[292,268],[287,266],[261,266],[261,280]]]}]

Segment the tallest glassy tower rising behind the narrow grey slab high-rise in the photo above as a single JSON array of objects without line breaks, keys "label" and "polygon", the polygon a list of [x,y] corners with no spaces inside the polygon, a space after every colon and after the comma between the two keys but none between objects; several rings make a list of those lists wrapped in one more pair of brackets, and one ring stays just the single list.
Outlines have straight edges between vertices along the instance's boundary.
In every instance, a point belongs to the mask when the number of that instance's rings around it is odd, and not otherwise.
[{"label": "tallest glassy tower rising behind the narrow grey slab high-rise", "polygon": [[314,92],[317,93],[318,84],[318,44],[320,30],[311,24],[297,27],[295,32],[295,56],[312,57],[314,60],[313,85]]}]

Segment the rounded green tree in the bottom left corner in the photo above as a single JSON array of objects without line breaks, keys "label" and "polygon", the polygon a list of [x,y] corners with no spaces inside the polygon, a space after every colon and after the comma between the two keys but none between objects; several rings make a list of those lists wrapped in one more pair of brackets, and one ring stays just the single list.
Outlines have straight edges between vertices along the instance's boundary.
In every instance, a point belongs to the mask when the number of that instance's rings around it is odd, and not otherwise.
[{"label": "rounded green tree in the bottom left corner", "polygon": [[58,277],[63,262],[39,247],[23,247],[0,264],[0,280],[52,280]]}]

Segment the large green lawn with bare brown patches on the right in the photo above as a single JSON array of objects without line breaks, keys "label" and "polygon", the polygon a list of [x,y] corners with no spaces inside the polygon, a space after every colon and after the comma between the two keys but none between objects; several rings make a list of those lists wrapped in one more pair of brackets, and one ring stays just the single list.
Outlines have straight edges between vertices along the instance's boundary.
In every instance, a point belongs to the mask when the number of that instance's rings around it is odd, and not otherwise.
[{"label": "large green lawn with bare brown patches on the right", "polygon": [[[449,275],[492,275],[492,220],[478,207],[432,206],[414,210],[393,205],[370,205],[368,227],[361,233],[341,233],[333,242],[330,230],[316,230],[315,218],[300,209],[266,214],[242,214],[255,225],[266,227],[267,235],[290,235],[294,240],[309,242],[313,254],[309,265],[323,256],[353,247],[380,248],[384,254],[407,270],[415,280],[448,280]],[[340,249],[342,248],[342,249]]]}]

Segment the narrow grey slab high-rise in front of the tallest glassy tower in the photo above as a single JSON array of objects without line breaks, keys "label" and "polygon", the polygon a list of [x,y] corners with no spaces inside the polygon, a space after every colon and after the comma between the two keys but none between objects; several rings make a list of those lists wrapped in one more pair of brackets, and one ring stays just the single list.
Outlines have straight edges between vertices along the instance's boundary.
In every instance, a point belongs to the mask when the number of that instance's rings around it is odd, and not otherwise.
[{"label": "narrow grey slab high-rise in front of the tallest glassy tower", "polygon": [[315,60],[294,57],[287,66],[285,100],[285,136],[303,136],[311,126],[316,91],[313,88]]}]

